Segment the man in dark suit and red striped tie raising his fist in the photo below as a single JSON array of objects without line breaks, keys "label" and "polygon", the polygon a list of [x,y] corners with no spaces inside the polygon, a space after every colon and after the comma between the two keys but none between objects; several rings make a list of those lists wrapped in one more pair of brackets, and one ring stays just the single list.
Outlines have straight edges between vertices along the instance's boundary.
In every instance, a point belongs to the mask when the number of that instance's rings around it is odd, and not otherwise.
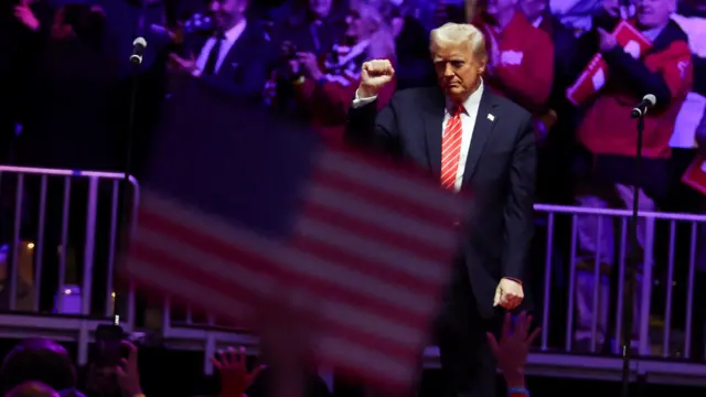
[{"label": "man in dark suit and red striped tie raising his fist", "polygon": [[439,347],[450,395],[492,397],[486,332],[498,329],[500,308],[515,309],[524,298],[536,168],[532,119],[484,86],[488,56],[475,28],[447,23],[431,32],[430,50],[441,89],[398,92],[379,112],[375,98],[394,69],[387,61],[363,65],[346,138],[418,163],[447,189],[470,191]]}]

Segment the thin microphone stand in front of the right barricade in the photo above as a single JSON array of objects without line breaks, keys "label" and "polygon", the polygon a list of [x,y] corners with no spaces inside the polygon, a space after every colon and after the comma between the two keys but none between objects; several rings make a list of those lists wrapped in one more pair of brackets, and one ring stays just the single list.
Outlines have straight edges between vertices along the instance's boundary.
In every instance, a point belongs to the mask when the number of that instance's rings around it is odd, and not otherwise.
[{"label": "thin microphone stand in front of the right barricade", "polygon": [[633,302],[634,294],[638,293],[637,279],[638,268],[640,261],[640,243],[638,239],[638,221],[639,206],[640,206],[640,182],[642,171],[642,136],[644,132],[644,116],[645,111],[641,112],[638,118],[638,144],[635,151],[635,167],[634,167],[634,181],[633,181],[633,195],[632,195],[632,214],[630,217],[630,227],[628,229],[628,239],[630,244],[630,257],[627,261],[625,279],[619,280],[619,282],[625,282],[627,292],[623,300],[623,328],[622,328],[622,388],[621,397],[629,397],[630,395],[630,362],[632,358],[632,324],[633,324]]}]

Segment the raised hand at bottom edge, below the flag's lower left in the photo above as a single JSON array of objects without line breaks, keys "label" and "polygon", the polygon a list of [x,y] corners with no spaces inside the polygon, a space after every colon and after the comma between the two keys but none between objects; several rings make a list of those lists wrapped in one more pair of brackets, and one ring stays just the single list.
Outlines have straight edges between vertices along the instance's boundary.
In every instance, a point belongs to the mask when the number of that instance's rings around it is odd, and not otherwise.
[{"label": "raised hand at bottom edge, below the flag's lower left", "polygon": [[228,347],[226,352],[218,352],[217,358],[211,358],[213,366],[218,369],[221,378],[221,393],[218,397],[242,397],[265,365],[258,365],[253,371],[247,371],[247,355],[245,347],[235,350]]}]

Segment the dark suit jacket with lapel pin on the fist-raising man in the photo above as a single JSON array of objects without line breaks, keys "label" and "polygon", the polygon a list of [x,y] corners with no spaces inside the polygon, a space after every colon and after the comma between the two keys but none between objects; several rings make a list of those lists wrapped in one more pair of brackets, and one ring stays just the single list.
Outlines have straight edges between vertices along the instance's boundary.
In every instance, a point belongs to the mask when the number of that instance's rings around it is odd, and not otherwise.
[{"label": "dark suit jacket with lapel pin on the fist-raising man", "polygon": [[[379,112],[374,104],[352,108],[346,138],[409,159],[438,181],[443,114],[445,96],[438,88],[400,90]],[[468,237],[459,254],[484,316],[493,314],[499,280],[524,277],[533,235],[535,173],[531,115],[485,87],[463,174],[462,190],[472,198]]]}]

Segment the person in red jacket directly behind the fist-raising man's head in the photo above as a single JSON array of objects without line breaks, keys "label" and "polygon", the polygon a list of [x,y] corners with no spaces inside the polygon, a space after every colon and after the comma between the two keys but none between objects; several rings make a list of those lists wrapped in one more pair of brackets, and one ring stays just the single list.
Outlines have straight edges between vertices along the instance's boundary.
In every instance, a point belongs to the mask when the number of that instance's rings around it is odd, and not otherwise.
[{"label": "person in red jacket directly behind the fist-raising man's head", "polygon": [[536,116],[546,110],[554,81],[552,37],[517,9],[517,0],[488,0],[473,24],[486,37],[488,84]]}]

